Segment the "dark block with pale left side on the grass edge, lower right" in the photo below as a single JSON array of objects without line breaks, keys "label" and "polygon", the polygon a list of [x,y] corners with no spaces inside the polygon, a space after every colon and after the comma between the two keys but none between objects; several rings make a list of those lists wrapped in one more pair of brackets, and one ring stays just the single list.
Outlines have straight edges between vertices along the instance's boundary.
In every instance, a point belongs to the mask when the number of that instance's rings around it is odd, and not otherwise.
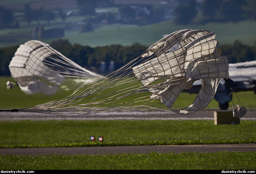
[{"label": "dark block with pale left side on the grass edge, lower right", "polygon": [[232,111],[214,111],[214,124],[240,124],[240,118],[234,117]]}]

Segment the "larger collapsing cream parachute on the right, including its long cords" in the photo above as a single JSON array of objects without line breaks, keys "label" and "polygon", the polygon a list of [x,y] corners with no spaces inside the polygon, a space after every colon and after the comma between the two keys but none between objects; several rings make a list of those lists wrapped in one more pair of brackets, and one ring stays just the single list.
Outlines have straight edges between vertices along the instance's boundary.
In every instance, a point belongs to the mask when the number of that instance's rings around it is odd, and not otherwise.
[{"label": "larger collapsing cream parachute on the right, including its long cords", "polygon": [[[159,40],[138,58],[104,79],[78,88],[57,101],[21,111],[91,114],[110,111],[165,110],[179,114],[205,108],[221,78],[228,79],[228,61],[215,33],[184,29]],[[183,89],[202,86],[193,103],[171,109]]]}]

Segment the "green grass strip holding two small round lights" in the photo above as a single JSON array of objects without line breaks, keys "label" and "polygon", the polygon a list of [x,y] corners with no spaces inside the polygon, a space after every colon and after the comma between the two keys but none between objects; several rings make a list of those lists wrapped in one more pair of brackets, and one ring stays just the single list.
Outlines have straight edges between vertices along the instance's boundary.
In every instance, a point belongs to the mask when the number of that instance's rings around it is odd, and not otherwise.
[{"label": "green grass strip holding two small round lights", "polygon": [[[217,126],[214,120],[0,121],[0,148],[256,143],[255,124],[255,120]],[[91,142],[91,135],[103,135],[104,142]]]}]

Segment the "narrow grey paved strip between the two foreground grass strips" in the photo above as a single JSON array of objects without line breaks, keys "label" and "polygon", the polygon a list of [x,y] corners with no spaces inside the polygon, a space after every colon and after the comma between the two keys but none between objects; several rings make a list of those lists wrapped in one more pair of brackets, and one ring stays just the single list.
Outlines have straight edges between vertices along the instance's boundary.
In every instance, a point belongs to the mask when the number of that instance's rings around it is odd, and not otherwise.
[{"label": "narrow grey paved strip between the two foreground grass strips", "polygon": [[115,146],[115,147],[68,147],[68,148],[6,148],[0,149],[1,155],[106,155],[118,153],[217,153],[217,152],[256,151],[253,144],[212,144],[212,145],[169,145],[169,146]]}]

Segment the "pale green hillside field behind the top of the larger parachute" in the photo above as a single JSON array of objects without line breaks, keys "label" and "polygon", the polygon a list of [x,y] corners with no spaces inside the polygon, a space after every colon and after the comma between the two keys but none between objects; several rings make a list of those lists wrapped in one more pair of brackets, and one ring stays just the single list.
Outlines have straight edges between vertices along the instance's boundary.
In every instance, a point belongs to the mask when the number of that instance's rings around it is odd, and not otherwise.
[{"label": "pale green hillside field behind the top of the larger parachute", "polygon": [[204,26],[179,26],[174,24],[173,21],[164,21],[142,27],[129,26],[128,28],[122,27],[119,29],[82,33],[65,38],[70,40],[71,43],[90,45],[92,47],[110,44],[131,45],[134,42],[150,46],[165,34],[187,28],[213,31],[221,45],[232,44],[235,40],[240,40],[244,44],[253,45],[256,41],[256,33],[254,32],[254,28],[256,28],[255,21],[227,24],[213,23]]}]

